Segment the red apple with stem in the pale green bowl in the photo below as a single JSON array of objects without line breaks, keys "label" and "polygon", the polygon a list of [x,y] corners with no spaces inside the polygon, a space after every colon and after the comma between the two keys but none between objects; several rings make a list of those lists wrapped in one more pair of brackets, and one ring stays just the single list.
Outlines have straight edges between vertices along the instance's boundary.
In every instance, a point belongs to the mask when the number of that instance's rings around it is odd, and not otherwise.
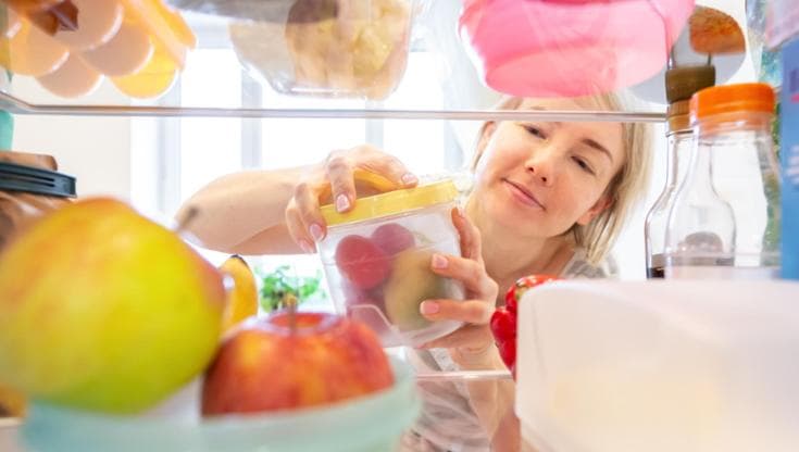
[{"label": "red apple with stem in the pale green bowl", "polygon": [[379,340],[359,322],[277,312],[245,324],[221,347],[202,387],[202,414],[316,406],[394,384]]}]

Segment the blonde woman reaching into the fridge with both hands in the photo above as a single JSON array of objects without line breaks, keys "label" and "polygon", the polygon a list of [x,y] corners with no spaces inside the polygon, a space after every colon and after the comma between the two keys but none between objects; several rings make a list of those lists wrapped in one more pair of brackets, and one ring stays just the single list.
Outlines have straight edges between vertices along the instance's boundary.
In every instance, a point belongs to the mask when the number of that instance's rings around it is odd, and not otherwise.
[{"label": "blonde woman reaching into the fridge with both hands", "polygon": [[[610,95],[511,98],[500,108],[621,110]],[[487,328],[503,302],[500,288],[529,274],[610,276],[607,253],[646,188],[646,127],[637,124],[485,123],[474,156],[474,186],[465,205],[452,212],[462,255],[436,254],[430,262],[434,272],[464,284],[466,300],[427,300],[420,307],[430,321],[457,319],[466,326],[412,354],[414,364],[434,371],[501,367]],[[204,212],[191,231],[204,246],[226,252],[313,252],[326,234],[319,197],[330,186],[337,210],[351,209],[355,167],[380,173],[397,187],[417,183],[397,159],[359,147],[334,152],[311,168],[245,172],[212,183],[186,203]],[[405,449],[517,447],[512,382],[423,384],[421,389],[425,409],[403,440]]]}]

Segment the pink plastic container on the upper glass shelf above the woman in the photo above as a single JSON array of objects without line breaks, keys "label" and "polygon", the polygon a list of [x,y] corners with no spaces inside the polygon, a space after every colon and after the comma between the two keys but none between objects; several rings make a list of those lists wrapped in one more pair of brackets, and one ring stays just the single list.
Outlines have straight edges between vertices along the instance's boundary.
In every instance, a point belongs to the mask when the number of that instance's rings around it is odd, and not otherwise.
[{"label": "pink plastic container on the upper glass shelf above the woman", "polygon": [[694,0],[464,0],[459,30],[485,84],[522,97],[575,97],[647,79]]}]

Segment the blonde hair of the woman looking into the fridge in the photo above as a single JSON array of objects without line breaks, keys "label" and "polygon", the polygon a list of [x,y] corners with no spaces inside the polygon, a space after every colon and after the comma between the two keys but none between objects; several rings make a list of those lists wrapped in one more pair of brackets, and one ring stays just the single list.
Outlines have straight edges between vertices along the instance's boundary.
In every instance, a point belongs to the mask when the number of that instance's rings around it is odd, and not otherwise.
[{"label": "blonde hair of the woman looking into the fridge", "polygon": [[[598,105],[603,111],[624,110],[624,102],[616,93],[587,96],[575,100],[580,104]],[[508,97],[498,103],[497,109],[517,110],[523,101],[523,98]],[[476,168],[485,149],[486,133],[490,124],[491,122],[483,124],[477,135],[472,171]],[[606,194],[610,196],[610,205],[587,225],[575,223],[570,229],[575,244],[585,249],[586,258],[591,264],[598,264],[610,252],[631,211],[644,199],[649,184],[652,161],[651,127],[641,123],[622,123],[622,142],[624,164],[606,188]]]}]

